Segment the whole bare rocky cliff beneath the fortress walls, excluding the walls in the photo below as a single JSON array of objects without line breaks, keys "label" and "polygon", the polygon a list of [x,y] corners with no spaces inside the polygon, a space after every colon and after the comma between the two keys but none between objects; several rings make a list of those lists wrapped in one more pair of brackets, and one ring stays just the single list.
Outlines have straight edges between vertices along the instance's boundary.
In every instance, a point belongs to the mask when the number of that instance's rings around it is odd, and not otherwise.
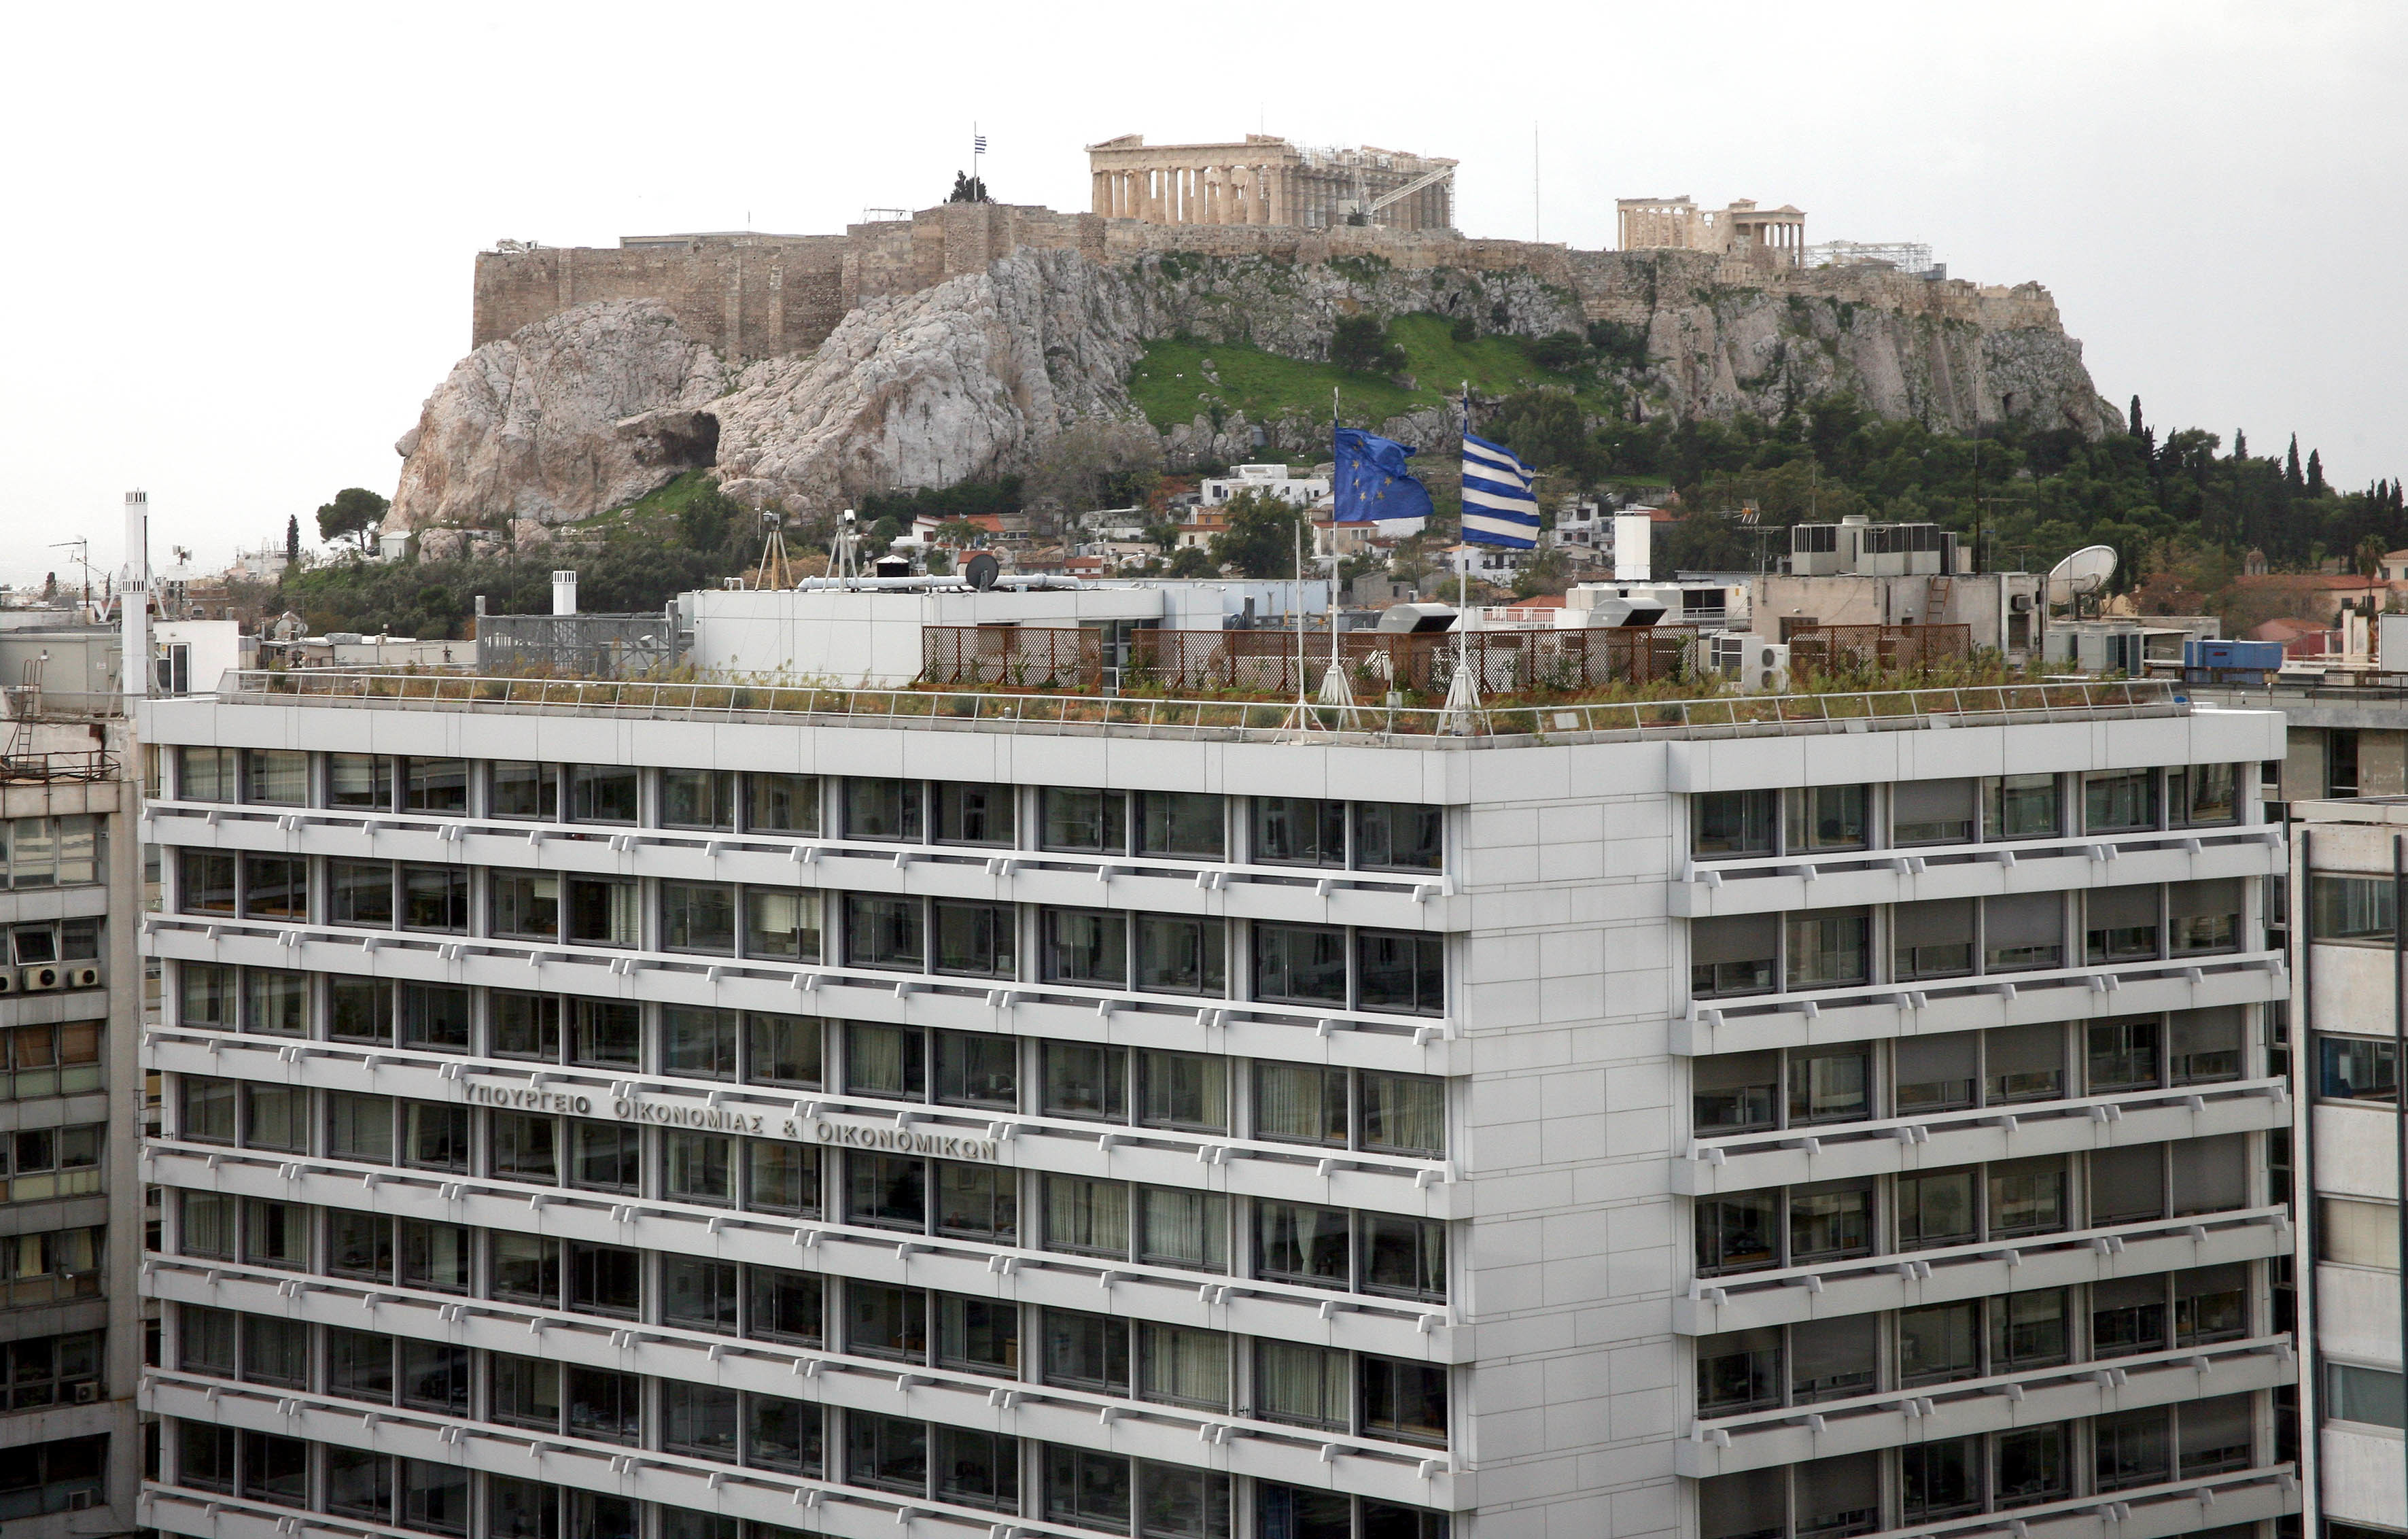
[{"label": "whole bare rocky cliff beneath the fortress walls, excluding the walls", "polygon": [[[1616,265],[1584,270],[1575,294],[1522,267],[1180,250],[1098,263],[1021,248],[985,272],[872,299],[811,352],[744,368],[684,335],[665,306],[583,303],[453,368],[397,443],[402,482],[385,527],[532,535],[713,465],[742,501],[802,515],[867,491],[1002,474],[1081,417],[1134,419],[1127,381],[1151,340],[1322,359],[1336,320],[1356,311],[1430,311],[1522,335],[1623,318],[1647,337],[1647,364],[1623,383],[1642,409],[1676,417],[1772,417],[1852,390],[1881,414],[1934,426],[2119,426],[2037,287],[1938,306],[1885,272],[1722,282],[1657,253],[1584,260]],[[1426,441],[1442,436],[1433,421],[1392,429]],[[1327,434],[1310,407],[1264,426],[1276,453],[1315,453]],[[1250,429],[1197,417],[1173,426],[1165,448],[1238,460],[1257,453]]]}]

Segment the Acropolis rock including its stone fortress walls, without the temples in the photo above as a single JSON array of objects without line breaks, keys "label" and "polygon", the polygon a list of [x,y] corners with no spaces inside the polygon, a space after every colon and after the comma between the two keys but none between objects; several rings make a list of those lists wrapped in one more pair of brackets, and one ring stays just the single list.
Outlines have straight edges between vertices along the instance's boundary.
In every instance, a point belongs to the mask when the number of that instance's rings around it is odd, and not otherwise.
[{"label": "Acropolis rock including its stone fortress walls, without the temples", "polygon": [[[1616,366],[1613,383],[1647,417],[1777,417],[1847,390],[1936,429],[2121,426],[2040,284],[1452,229],[946,202],[840,236],[479,253],[474,352],[397,443],[388,530],[539,537],[691,467],[797,515],[992,477],[1081,417],[1137,419],[1129,383],[1153,342],[1327,359],[1348,313],[1435,313],[1524,337],[1630,328],[1645,364]],[[1435,412],[1373,426],[1409,443],[1445,436]],[[1194,419],[1163,438],[1173,462],[1192,462],[1320,453],[1327,431],[1327,397],[1250,424],[1199,381]],[[458,544],[424,544],[445,539]]]}]

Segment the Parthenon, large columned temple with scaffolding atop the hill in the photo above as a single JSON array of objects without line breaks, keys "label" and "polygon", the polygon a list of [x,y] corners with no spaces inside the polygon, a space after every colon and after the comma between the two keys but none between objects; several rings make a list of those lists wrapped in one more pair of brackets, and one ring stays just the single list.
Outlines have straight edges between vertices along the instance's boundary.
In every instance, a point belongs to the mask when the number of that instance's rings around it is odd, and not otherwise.
[{"label": "Parthenon, large columned temple with scaffolding atop the hill", "polygon": [[1310,149],[1250,132],[1230,145],[1086,147],[1093,210],[1146,224],[1377,224],[1452,229],[1454,161],[1399,149]]}]

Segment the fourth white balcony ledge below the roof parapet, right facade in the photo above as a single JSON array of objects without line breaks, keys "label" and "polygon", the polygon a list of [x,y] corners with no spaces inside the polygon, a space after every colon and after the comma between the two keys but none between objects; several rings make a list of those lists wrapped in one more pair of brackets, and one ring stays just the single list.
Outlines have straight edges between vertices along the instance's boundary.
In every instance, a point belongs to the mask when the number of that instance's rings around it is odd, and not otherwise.
[{"label": "fourth white balcony ledge below the roof parapet, right facade", "polygon": [[1907,1310],[1919,1303],[2061,1289],[2215,1262],[2254,1262],[2290,1255],[2290,1209],[2254,1207],[1811,1267],[1767,1267],[1693,1279],[1688,1296],[1671,1301],[1671,1327],[1683,1337],[1710,1337],[1758,1325]]}]

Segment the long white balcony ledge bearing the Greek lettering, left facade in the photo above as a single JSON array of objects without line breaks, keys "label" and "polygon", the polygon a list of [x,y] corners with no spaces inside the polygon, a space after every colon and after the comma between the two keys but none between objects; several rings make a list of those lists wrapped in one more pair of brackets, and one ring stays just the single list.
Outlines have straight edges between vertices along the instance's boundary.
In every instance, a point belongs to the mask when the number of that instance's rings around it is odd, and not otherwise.
[{"label": "long white balcony ledge bearing the Greek lettering, left facade", "polygon": [[1421,1219],[1457,1219],[1469,1209],[1466,1187],[1454,1180],[1450,1161],[1351,1149],[188,1026],[144,1031],[142,1050],[142,1062],[152,1072],[231,1074],[270,1084],[501,1108],[571,1110],[583,1103],[571,1115],[720,1127],[821,1146],[862,1146],[864,1134],[886,1142],[898,1132],[925,1130],[932,1139],[978,1142],[985,1146],[982,1158],[999,1166],[1057,1175],[1204,1185],[1243,1190],[1247,1197],[1365,1207]]}]

